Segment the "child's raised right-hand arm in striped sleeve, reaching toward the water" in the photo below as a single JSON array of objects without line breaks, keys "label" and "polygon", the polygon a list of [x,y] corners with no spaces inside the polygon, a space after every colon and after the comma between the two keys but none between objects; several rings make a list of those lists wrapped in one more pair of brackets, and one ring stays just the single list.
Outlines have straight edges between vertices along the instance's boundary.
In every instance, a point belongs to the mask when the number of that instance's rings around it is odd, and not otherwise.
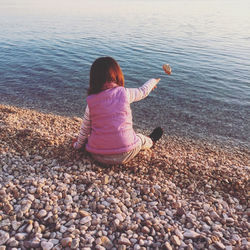
[{"label": "child's raised right-hand arm in striped sleeve, reaching toward the water", "polygon": [[150,79],[139,88],[126,88],[129,102],[137,102],[147,97],[161,79]]}]

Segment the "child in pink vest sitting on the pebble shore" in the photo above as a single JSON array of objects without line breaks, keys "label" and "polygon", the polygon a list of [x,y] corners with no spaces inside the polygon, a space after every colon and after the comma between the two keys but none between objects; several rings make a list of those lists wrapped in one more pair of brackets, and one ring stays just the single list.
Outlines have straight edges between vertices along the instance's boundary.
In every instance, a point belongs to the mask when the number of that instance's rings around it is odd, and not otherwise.
[{"label": "child in pink vest sitting on the pebble shore", "polygon": [[86,147],[104,164],[127,163],[140,150],[151,148],[163,130],[157,127],[149,136],[136,134],[130,103],[147,97],[159,81],[150,79],[140,88],[125,88],[119,64],[111,57],[96,59],[90,69],[87,107],[73,147]]}]

